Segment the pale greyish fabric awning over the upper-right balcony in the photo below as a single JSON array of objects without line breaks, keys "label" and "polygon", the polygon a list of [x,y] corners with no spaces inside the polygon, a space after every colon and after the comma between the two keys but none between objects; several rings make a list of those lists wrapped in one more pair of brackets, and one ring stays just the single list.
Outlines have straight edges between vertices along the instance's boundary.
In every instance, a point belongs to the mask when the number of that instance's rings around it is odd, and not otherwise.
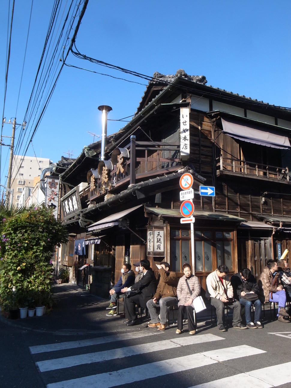
[{"label": "pale greyish fabric awning over the upper-right balcony", "polygon": [[287,136],[282,133],[271,133],[268,130],[262,131],[261,127],[254,125],[242,125],[238,121],[225,120],[221,118],[223,132],[235,139],[244,142],[266,145],[267,147],[289,149],[290,142]]}]

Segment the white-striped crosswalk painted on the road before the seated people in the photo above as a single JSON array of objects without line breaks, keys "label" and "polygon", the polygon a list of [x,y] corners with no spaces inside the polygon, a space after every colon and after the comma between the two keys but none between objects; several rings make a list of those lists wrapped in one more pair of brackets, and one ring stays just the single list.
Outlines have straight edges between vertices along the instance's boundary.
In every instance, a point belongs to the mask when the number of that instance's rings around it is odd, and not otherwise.
[{"label": "white-striped crosswalk painted on the road before the seated people", "polygon": [[[291,362],[287,362],[275,365],[276,376],[280,376],[276,383],[274,369],[267,367],[244,373],[237,370],[232,376],[212,381],[211,376],[215,373],[210,373],[206,374],[208,382],[195,385],[195,381],[201,381],[201,376],[205,380],[205,368],[220,367],[231,360],[260,355],[265,357],[265,365],[268,365],[268,355],[264,350],[244,344],[225,347],[224,340],[224,337],[211,333],[168,339],[165,332],[137,331],[31,346],[29,349],[47,388],[110,388],[142,382],[146,386],[154,386],[146,380],[156,381],[165,376],[175,379],[181,373],[193,376],[188,377],[192,385],[187,385],[187,388],[240,388],[251,385],[268,388],[291,383]],[[203,346],[211,350],[204,350]]]}]

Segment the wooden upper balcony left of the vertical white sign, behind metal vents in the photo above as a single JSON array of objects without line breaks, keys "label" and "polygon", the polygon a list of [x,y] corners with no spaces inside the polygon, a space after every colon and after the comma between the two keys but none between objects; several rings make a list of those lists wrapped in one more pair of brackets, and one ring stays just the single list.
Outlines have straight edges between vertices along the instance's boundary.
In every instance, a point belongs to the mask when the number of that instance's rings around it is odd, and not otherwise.
[{"label": "wooden upper balcony left of the vertical white sign, behind metal vents", "polygon": [[[126,145],[129,158],[120,158],[105,176],[95,180],[95,189],[90,191],[90,201],[104,194],[119,192],[142,180],[177,171],[182,165],[180,144],[169,142],[138,142],[134,137]],[[122,160],[122,162],[121,162]]]}]

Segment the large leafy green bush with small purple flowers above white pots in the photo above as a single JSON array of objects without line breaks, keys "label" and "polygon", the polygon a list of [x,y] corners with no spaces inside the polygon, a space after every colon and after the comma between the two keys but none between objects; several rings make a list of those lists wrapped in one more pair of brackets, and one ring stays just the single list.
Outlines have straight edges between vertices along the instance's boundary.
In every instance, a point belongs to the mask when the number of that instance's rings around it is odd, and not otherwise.
[{"label": "large leafy green bush with small purple flowers above white pots", "polygon": [[67,229],[43,206],[8,210],[0,206],[0,306],[51,304],[51,258]]}]

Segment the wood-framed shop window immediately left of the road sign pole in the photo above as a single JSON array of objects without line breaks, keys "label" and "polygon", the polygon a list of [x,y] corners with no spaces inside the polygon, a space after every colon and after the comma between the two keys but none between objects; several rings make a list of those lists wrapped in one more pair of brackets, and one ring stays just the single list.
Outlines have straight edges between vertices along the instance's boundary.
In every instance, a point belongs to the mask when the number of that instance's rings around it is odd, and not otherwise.
[{"label": "wood-framed shop window immediately left of the road sign pole", "polygon": [[182,266],[184,263],[189,263],[191,265],[190,247],[190,230],[171,229],[170,257],[172,271],[182,272]]}]

